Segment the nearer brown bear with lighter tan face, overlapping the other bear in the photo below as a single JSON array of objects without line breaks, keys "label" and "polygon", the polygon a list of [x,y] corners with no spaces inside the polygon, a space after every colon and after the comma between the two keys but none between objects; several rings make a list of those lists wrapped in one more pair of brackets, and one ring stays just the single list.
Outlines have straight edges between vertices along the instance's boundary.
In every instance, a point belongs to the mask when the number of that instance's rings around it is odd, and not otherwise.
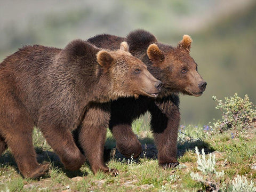
[{"label": "nearer brown bear with lighter tan face, overlapping the other bear", "polygon": [[37,126],[66,169],[77,170],[85,156],[71,131],[79,126],[93,173],[118,174],[103,162],[109,101],[156,97],[161,87],[127,50],[126,42],[107,51],[77,39],[65,49],[25,46],[5,58],[0,64],[0,154],[9,147],[25,178],[45,174],[49,164],[38,164],[33,148]]}]

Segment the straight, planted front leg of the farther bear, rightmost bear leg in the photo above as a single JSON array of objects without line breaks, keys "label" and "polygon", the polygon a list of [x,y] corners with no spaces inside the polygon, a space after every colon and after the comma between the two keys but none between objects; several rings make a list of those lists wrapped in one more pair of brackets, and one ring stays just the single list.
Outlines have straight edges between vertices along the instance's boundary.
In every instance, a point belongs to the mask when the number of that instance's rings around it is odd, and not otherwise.
[{"label": "straight, planted front leg of the farther bear, rightmost bear leg", "polygon": [[164,169],[173,168],[179,165],[176,157],[179,108],[170,100],[156,104],[156,108],[151,110],[151,129],[158,149],[158,164]]}]

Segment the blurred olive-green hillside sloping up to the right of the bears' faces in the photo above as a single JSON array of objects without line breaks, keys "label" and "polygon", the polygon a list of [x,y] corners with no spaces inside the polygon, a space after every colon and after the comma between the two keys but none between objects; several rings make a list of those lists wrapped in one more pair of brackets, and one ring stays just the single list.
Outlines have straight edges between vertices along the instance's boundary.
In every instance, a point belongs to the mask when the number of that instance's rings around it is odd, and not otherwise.
[{"label": "blurred olive-green hillside sloping up to the right of the bears' faces", "polygon": [[[194,43],[191,55],[207,82],[200,98],[182,97],[183,121],[202,123],[219,118],[212,95],[219,99],[248,94],[256,103],[256,2],[250,9],[228,15],[207,29],[191,34]],[[193,111],[193,113],[191,113]]]}]

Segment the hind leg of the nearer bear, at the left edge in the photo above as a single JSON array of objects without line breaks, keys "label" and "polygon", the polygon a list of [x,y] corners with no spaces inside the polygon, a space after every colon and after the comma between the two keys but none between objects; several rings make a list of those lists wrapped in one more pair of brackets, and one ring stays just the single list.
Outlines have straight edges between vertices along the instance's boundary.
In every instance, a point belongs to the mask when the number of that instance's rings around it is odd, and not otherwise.
[{"label": "hind leg of the nearer bear, at the left edge", "polygon": [[33,120],[13,95],[0,95],[0,98],[0,152],[9,147],[23,177],[41,177],[49,170],[49,164],[39,165],[36,160]]}]

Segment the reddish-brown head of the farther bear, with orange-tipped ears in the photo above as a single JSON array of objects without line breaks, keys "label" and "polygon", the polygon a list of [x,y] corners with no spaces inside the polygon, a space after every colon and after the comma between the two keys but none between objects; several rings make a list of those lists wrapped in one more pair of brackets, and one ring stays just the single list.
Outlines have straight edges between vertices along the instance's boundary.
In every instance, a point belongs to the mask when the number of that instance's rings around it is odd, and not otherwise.
[{"label": "reddish-brown head of the farther bear, with orange-tipped ears", "polygon": [[204,92],[206,82],[189,55],[191,43],[190,36],[184,35],[177,47],[158,42],[148,46],[149,71],[163,82],[163,92],[181,92],[196,97]]}]

